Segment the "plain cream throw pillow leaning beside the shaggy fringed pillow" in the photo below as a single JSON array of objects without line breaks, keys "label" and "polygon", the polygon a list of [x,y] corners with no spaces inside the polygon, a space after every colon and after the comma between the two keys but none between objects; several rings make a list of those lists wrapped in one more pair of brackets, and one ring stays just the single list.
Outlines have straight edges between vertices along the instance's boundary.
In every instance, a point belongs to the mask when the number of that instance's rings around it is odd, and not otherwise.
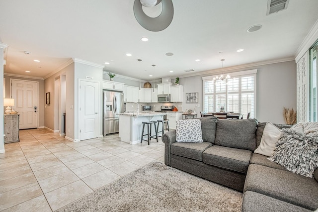
[{"label": "plain cream throw pillow leaning beside the shaggy fringed pillow", "polygon": [[275,152],[275,145],[280,135],[281,130],[271,122],[267,122],[260,144],[254,153],[270,157]]}]

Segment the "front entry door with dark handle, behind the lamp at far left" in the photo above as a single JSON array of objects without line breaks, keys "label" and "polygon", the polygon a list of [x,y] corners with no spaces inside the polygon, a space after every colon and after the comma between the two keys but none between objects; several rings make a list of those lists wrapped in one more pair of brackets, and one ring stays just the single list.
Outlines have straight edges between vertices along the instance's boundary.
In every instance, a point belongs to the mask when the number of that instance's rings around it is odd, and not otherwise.
[{"label": "front entry door with dark handle, behind the lamp at far left", "polygon": [[20,114],[19,128],[37,128],[37,83],[22,80],[12,80],[11,83],[11,96],[15,102],[12,108]]}]

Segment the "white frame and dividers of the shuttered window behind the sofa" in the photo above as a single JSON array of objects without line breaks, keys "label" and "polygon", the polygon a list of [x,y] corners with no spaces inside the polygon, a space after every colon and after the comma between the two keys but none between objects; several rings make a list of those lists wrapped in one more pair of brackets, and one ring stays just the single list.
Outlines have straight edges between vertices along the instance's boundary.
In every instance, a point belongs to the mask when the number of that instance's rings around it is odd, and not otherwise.
[{"label": "white frame and dividers of the shuttered window behind the sofa", "polygon": [[[257,69],[252,69],[252,70],[245,70],[245,71],[239,71],[239,72],[233,72],[233,73],[226,73],[231,75],[231,78],[237,77],[239,78],[239,92],[229,92],[228,91],[228,86],[226,86],[226,91],[225,92],[217,92],[216,91],[216,85],[213,85],[213,92],[210,92],[213,94],[213,112],[218,112],[217,110],[217,106],[216,106],[216,97],[217,95],[220,94],[225,94],[226,95],[226,110],[228,108],[228,95],[230,94],[238,94],[239,95],[239,112],[242,112],[242,94],[247,94],[247,93],[253,93],[254,95],[254,106],[253,106],[253,110],[254,110],[254,114],[253,114],[253,118],[256,118],[256,108],[257,108],[257,78],[256,78],[256,74],[257,74]],[[205,93],[205,82],[209,82],[212,81],[214,77],[216,77],[217,75],[212,75],[212,76],[206,76],[206,77],[202,77],[202,106],[203,106],[203,110],[205,110],[205,97],[206,97],[206,93]],[[248,77],[248,76],[252,76],[254,78],[254,88],[253,91],[242,91],[242,87],[241,87],[241,78],[243,77]],[[247,114],[246,114],[247,115]],[[245,116],[246,117],[246,116]]]}]

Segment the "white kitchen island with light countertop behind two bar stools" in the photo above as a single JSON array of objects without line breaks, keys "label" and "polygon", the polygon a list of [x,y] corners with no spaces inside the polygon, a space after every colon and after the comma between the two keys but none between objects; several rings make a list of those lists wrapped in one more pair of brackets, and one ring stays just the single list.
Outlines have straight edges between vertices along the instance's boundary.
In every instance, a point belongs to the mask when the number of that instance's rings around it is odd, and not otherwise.
[{"label": "white kitchen island with light countertop behind two bar stools", "polygon": [[[143,131],[143,121],[162,120],[164,112],[125,112],[118,113],[119,115],[119,137],[121,141],[135,144],[141,142],[141,133]],[[158,123],[157,123],[158,126]],[[145,132],[147,133],[147,126]],[[160,125],[160,128],[161,125]],[[160,129],[159,129],[160,131]],[[154,126],[152,128],[153,135],[155,134]],[[146,136],[145,136],[146,137]]]}]

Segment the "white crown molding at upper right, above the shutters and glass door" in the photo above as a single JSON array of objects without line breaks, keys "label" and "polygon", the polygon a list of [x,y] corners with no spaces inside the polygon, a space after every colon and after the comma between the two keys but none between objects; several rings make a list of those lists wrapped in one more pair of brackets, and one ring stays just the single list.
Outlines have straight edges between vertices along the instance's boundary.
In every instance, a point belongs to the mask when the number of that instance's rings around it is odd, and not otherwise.
[{"label": "white crown molding at upper right, above the shutters and glass door", "polygon": [[298,62],[299,59],[312,47],[312,45],[318,40],[318,20],[311,28],[302,44],[298,47],[295,53],[295,61]]}]

